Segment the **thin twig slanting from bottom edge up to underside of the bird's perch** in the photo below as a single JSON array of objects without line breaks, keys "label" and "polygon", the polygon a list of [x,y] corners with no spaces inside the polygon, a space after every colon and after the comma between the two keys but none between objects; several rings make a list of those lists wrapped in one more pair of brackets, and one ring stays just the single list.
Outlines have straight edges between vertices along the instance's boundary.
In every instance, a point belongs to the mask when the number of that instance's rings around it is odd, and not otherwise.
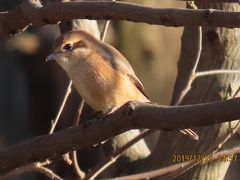
[{"label": "thin twig slanting from bottom edge up to underside of the bird's perch", "polygon": [[116,149],[112,154],[107,156],[102,162],[100,162],[94,169],[92,169],[85,177],[85,179],[93,180],[95,179],[100,173],[102,173],[106,168],[108,168],[111,164],[113,164],[121,154],[127,150],[129,147],[137,143],[142,138],[146,137],[147,135],[153,133],[153,130],[143,130],[139,135],[134,137],[131,141],[127,144],[123,145],[121,148]]}]

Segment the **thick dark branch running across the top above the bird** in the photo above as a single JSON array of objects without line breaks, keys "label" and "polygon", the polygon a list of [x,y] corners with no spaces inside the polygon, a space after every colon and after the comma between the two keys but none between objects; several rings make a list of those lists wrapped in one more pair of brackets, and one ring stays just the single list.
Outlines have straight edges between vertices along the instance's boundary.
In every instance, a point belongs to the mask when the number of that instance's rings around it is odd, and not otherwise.
[{"label": "thick dark branch running across the top above the bird", "polygon": [[0,13],[0,35],[16,33],[30,24],[43,26],[71,19],[114,19],[164,26],[240,27],[240,12],[214,9],[162,9],[124,2],[58,2],[42,6],[28,0],[9,12]]}]

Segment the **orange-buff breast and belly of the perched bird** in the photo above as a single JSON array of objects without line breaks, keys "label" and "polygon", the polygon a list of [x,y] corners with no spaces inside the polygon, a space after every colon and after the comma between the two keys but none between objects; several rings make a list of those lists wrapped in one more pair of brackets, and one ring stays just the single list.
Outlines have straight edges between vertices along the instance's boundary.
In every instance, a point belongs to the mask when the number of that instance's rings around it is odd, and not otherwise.
[{"label": "orange-buff breast and belly of the perched bird", "polygon": [[130,100],[147,101],[127,76],[107,62],[83,61],[70,77],[77,91],[97,111],[106,112]]}]

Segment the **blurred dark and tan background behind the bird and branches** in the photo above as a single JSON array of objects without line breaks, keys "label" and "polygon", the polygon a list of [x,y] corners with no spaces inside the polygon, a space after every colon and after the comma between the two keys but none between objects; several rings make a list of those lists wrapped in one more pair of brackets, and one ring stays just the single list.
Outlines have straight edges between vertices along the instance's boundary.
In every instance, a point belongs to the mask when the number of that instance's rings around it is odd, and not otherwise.
[{"label": "blurred dark and tan background behind the bird and branches", "polygon": [[[11,10],[21,2],[0,0],[0,11]],[[162,8],[185,7],[184,2],[170,0],[127,2]],[[150,99],[168,105],[176,78],[182,31],[183,28],[114,21],[108,29],[106,42],[130,61]],[[55,62],[45,62],[58,35],[58,26],[48,25],[0,37],[1,147],[48,133],[69,82]],[[73,90],[57,129],[72,125],[79,99]],[[61,173],[62,177],[69,177],[67,173],[71,174],[71,170]],[[231,169],[231,175],[234,173]],[[43,177],[34,174],[25,178]]]}]

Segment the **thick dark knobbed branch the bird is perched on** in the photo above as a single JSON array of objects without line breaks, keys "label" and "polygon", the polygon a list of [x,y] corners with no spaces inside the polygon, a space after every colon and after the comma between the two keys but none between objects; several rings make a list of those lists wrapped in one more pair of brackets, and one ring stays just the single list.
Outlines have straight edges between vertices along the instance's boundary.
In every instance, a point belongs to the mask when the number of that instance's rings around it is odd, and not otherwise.
[{"label": "thick dark knobbed branch the bird is perched on", "polygon": [[184,129],[232,121],[239,117],[240,98],[178,107],[128,102],[104,119],[93,119],[79,127],[2,149],[0,172],[94,145],[130,129]]}]

